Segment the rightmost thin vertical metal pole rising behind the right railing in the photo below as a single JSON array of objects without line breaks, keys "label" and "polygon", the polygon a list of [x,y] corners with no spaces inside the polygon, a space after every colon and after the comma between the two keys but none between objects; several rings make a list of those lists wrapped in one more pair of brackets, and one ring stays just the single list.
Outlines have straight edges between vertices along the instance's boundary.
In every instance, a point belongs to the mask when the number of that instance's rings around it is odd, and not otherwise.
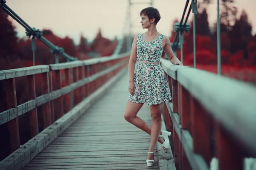
[{"label": "rightmost thin vertical metal pole rising behind the right railing", "polygon": [[220,26],[220,3],[217,0],[217,67],[218,75],[221,75],[221,26]]}]

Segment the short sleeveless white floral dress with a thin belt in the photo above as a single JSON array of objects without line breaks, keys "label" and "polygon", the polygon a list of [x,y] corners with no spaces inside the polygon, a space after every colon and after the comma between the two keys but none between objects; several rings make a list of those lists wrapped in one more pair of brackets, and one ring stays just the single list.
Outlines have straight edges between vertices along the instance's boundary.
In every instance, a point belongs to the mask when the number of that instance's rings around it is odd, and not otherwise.
[{"label": "short sleeveless white floral dress with a thin belt", "polygon": [[162,41],[164,35],[159,35],[154,41],[144,41],[142,34],[137,38],[137,64],[134,69],[134,95],[128,100],[134,103],[157,105],[171,100],[171,92],[166,74],[160,64],[147,62],[160,62],[163,53]]}]

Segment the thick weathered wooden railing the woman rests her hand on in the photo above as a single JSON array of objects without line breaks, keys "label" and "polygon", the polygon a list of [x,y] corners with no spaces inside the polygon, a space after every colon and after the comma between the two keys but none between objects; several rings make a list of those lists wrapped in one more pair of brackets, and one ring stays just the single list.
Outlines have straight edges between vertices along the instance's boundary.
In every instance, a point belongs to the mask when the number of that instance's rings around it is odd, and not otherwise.
[{"label": "thick weathered wooden railing the woman rests her hand on", "polygon": [[162,59],[172,101],[163,110],[177,170],[242,170],[256,156],[256,87]]}]

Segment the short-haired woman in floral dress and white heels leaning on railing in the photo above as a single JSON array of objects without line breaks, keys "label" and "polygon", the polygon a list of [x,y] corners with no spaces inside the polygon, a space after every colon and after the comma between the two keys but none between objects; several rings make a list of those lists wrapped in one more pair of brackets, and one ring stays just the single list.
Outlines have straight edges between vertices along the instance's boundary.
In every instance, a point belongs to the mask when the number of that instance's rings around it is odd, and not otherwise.
[{"label": "short-haired woman in floral dress and white heels leaning on railing", "polygon": [[[165,51],[172,64],[182,65],[182,63],[174,56],[169,38],[157,31],[156,25],[160,20],[159,11],[152,7],[144,8],[140,16],[142,28],[148,31],[135,36],[132,43],[128,66],[130,95],[124,118],[151,135],[146,162],[148,166],[154,166],[154,148],[157,141],[164,148],[169,147],[169,140],[163,140],[161,134],[171,134],[161,130],[162,103],[171,100],[172,97],[166,74],[159,64],[160,58]],[[144,103],[150,105],[152,127],[136,116]]]}]

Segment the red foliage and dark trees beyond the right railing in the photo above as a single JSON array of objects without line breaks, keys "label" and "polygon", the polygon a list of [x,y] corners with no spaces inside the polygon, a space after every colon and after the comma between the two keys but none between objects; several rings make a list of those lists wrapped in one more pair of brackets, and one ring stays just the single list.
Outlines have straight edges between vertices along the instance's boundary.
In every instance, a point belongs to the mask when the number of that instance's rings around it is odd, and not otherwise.
[{"label": "red foliage and dark trees beyond the right railing", "polygon": [[[221,74],[256,84],[256,34],[252,34],[248,16],[245,11],[240,16],[237,16],[236,11],[222,11],[221,14],[224,16],[221,17]],[[230,18],[233,19],[233,25]],[[214,28],[209,27],[204,4],[198,6],[195,22],[196,68],[217,73],[216,23]],[[169,37],[171,42],[174,37],[175,32],[172,31]],[[177,50],[177,57],[180,59],[180,50]],[[193,66],[193,22],[190,22],[189,32],[184,33],[183,64]]]}]

